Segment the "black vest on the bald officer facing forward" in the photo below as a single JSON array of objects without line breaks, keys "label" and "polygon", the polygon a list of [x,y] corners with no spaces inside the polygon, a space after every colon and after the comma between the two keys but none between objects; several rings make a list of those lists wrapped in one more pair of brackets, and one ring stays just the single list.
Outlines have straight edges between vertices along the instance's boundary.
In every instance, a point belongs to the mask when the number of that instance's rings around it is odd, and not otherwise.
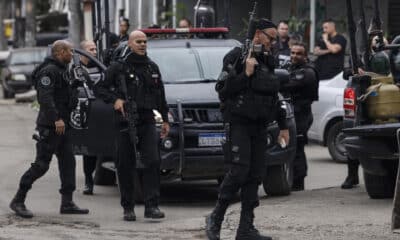
[{"label": "black vest on the bald officer facing forward", "polygon": [[128,96],[136,101],[138,110],[153,110],[161,106],[161,76],[154,63],[128,66],[125,79]]}]

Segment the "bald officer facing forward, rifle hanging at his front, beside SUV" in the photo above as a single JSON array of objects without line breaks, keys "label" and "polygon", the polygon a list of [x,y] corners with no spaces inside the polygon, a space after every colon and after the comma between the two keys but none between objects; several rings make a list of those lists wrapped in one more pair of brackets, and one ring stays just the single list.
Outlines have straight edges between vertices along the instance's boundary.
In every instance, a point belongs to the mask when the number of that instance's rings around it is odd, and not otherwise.
[{"label": "bald officer facing forward, rifle hanging at his front, beside SUV", "polygon": [[[137,171],[143,182],[146,218],[164,218],[165,214],[158,208],[160,197],[160,157],[158,151],[159,137],[164,138],[169,132],[168,106],[165,100],[164,85],[158,66],[146,55],[147,37],[141,31],[129,35],[130,52],[117,62],[113,62],[106,71],[106,79],[98,84],[97,94],[105,102],[114,104],[116,114],[122,120],[118,124],[117,136],[117,174],[121,192],[121,205],[124,208],[124,220],[135,221],[134,212],[134,178],[135,153],[127,131],[125,101],[137,104],[139,119],[137,122],[138,149],[142,169]],[[122,81],[127,86],[128,98],[123,94]],[[112,90],[114,89],[114,90]],[[161,136],[155,127],[153,109],[162,116]]]}]

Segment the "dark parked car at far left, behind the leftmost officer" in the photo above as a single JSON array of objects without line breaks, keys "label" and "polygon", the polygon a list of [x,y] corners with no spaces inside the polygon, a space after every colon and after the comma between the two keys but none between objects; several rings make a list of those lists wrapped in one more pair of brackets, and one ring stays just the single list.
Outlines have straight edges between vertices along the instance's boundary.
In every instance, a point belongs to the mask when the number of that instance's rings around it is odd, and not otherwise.
[{"label": "dark parked car at far left, behind the leftmost officer", "polygon": [[47,55],[47,48],[18,48],[10,51],[0,74],[3,97],[12,98],[32,88],[31,73]]}]

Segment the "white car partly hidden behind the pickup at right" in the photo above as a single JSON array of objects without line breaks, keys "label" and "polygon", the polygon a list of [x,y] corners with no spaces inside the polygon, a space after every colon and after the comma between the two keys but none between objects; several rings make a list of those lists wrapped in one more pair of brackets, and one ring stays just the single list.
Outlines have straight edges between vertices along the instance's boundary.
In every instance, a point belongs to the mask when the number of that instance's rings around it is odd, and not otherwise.
[{"label": "white car partly hidden behind the pickup at right", "polygon": [[309,139],[328,146],[332,159],[337,162],[347,161],[341,132],[346,84],[342,72],[332,79],[319,81],[319,100],[312,104],[314,121],[308,131]]}]

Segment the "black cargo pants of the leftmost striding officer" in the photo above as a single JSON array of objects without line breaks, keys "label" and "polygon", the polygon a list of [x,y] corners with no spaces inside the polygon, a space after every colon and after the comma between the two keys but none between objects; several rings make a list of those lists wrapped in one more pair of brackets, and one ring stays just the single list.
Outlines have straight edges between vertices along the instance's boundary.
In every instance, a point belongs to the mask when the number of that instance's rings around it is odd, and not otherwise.
[{"label": "black cargo pants of the leftmost striding officer", "polygon": [[56,154],[61,179],[60,193],[72,194],[75,190],[76,163],[68,130],[64,135],[57,135],[51,128],[37,127],[37,130],[40,140],[36,143],[36,159],[28,171],[22,175],[20,190],[27,192],[31,189],[32,184],[49,170],[51,158],[53,154]]}]

